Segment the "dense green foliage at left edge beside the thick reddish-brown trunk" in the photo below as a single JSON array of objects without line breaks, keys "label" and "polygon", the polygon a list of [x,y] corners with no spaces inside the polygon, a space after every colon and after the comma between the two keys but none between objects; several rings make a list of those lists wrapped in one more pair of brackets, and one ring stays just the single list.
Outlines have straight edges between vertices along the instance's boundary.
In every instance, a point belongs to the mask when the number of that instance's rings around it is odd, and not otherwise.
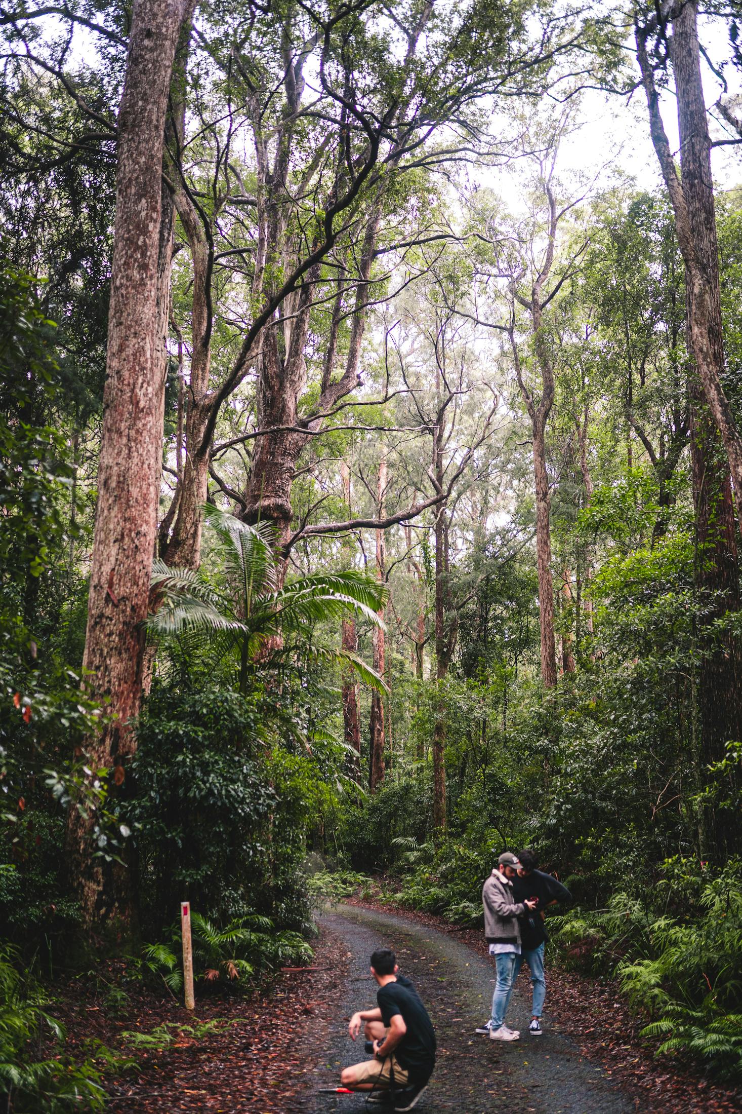
[{"label": "dense green foliage at left edge beside the thick reddish-brown trunk", "polygon": [[[106,810],[107,786],[72,750],[100,707],[80,692],[80,670],[60,631],[80,584],[68,547],[72,466],[57,422],[66,378],[37,284],[0,270],[0,912],[29,948],[69,929],[75,910],[61,876],[62,810],[96,813],[96,853],[118,854],[123,832]],[[19,900],[22,893],[22,899]]]}]

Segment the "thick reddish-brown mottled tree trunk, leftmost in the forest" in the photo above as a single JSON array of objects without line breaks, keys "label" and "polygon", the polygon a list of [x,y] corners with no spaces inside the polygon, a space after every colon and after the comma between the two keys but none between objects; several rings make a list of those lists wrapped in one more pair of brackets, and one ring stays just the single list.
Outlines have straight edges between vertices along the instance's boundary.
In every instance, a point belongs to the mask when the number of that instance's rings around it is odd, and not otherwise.
[{"label": "thick reddish-brown mottled tree trunk, leftmost in the forest", "polygon": [[[107,380],[83,670],[115,719],[88,740],[89,763],[120,784],[136,747],[144,628],[157,534],[167,312],[160,235],[162,148],[185,0],[136,0],[118,118],[118,176]],[[169,235],[169,233],[168,233]],[[135,467],[136,462],[136,467]],[[92,819],[69,812],[73,882],[87,927],[130,925],[130,873],[95,859]]]}]

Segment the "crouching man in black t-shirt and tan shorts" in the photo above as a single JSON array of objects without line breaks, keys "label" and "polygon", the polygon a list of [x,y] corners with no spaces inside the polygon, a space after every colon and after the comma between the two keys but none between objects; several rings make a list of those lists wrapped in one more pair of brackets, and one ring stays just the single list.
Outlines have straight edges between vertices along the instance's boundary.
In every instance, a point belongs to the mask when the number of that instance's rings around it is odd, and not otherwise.
[{"label": "crouching man in black t-shirt and tan shorts", "polygon": [[369,1102],[390,1098],[393,1110],[410,1111],[435,1067],[433,1023],[413,984],[398,974],[394,951],[375,951],[370,971],[378,986],[376,1009],[354,1014],[348,1033],[355,1040],[364,1026],[374,1058],[344,1068],[340,1083],[373,1092]]}]

